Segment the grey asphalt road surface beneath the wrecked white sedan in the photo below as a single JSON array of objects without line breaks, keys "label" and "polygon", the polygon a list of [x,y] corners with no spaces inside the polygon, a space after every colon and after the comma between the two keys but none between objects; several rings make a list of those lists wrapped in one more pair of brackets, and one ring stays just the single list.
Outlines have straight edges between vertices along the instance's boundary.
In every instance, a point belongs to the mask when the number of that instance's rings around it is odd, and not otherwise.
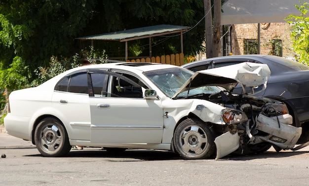
[{"label": "grey asphalt road surface beneath the wrecked white sedan", "polygon": [[183,160],[158,150],[100,148],[42,157],[30,142],[0,133],[0,186],[308,186],[309,147],[298,151]]}]

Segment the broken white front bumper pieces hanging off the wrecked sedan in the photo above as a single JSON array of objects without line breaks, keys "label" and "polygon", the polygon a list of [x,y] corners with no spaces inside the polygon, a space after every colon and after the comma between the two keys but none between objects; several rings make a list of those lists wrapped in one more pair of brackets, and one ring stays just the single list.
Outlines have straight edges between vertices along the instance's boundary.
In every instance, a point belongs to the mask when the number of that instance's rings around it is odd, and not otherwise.
[{"label": "broken white front bumper pieces hanging off the wrecked sedan", "polygon": [[[281,149],[293,149],[302,133],[302,128],[292,126],[293,118],[290,114],[268,117],[260,114],[257,118],[256,129],[268,133],[268,135],[251,135],[247,127],[246,134],[250,138],[248,144],[269,142]],[[215,139],[217,147],[216,159],[222,158],[240,146],[238,133],[226,132]]]}]

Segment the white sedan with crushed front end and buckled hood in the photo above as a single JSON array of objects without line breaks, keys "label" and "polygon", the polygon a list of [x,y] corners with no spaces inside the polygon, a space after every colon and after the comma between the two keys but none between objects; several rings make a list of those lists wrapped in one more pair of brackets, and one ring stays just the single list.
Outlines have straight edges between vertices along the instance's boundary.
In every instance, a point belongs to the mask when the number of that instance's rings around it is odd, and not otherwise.
[{"label": "white sedan with crushed front end and buckled hood", "polygon": [[[4,126],[51,157],[75,145],[171,150],[185,159],[293,149],[302,129],[287,107],[252,97],[269,77],[255,63],[195,74],[154,63],[83,66],[13,91]],[[244,94],[232,95],[238,83]]]}]

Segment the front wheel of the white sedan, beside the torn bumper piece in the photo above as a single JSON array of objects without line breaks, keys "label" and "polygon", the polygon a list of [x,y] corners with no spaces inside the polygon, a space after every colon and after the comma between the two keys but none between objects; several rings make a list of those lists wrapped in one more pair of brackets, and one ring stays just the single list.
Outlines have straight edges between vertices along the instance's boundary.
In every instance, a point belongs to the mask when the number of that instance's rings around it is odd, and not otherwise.
[{"label": "front wheel of the white sedan, beside the torn bumper piece", "polygon": [[181,122],[174,133],[174,147],[185,159],[201,159],[214,155],[214,132],[197,119]]}]

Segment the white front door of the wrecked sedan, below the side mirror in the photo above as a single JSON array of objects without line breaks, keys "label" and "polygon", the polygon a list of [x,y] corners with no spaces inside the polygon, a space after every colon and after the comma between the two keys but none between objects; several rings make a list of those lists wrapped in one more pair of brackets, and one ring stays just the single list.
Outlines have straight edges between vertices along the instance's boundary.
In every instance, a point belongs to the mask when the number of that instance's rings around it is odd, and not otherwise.
[{"label": "white front door of the wrecked sedan, below the side mirror", "polygon": [[143,99],[142,86],[145,85],[140,86],[141,81],[139,84],[132,81],[132,77],[139,79],[130,74],[89,71],[91,86],[100,81],[95,78],[98,74],[104,74],[109,86],[103,85],[107,89],[102,94],[95,91],[89,94],[91,144],[161,143],[161,102]]}]

